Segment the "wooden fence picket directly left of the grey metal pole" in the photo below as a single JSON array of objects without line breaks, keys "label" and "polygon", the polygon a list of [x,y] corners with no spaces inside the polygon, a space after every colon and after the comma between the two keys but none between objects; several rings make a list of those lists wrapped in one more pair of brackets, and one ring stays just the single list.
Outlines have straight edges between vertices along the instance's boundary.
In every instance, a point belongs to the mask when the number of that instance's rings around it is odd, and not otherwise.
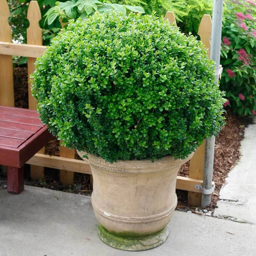
[{"label": "wooden fence picket directly left of the grey metal pole", "polygon": [[[210,15],[204,14],[199,28],[198,35],[207,50],[208,58],[210,58],[211,51],[211,31],[212,19]],[[196,149],[194,156],[190,159],[189,164],[189,178],[203,180],[204,177],[204,153],[205,141]],[[202,194],[188,191],[188,204],[198,206],[201,205]]]}]

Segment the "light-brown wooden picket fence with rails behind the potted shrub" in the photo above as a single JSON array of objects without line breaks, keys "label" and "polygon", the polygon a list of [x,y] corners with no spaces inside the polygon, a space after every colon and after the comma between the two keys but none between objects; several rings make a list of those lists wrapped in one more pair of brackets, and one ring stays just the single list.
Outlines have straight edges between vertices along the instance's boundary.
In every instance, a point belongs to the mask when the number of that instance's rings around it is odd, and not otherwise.
[{"label": "light-brown wooden picket fence with rails behind the potted shrub", "polygon": [[[28,57],[28,75],[34,71],[34,63],[46,49],[42,45],[42,29],[39,27],[41,13],[37,1],[31,1],[28,8],[27,18],[29,27],[27,29],[28,44],[12,43],[11,27],[8,24],[10,11],[6,0],[0,0],[0,105],[14,106],[13,89],[13,67],[12,55]],[[173,25],[176,20],[173,12],[167,12],[165,19]],[[208,48],[210,56],[212,20],[210,15],[204,15],[198,30],[198,35],[204,46]],[[28,102],[30,109],[36,109],[36,100],[32,97],[30,84],[28,83]],[[60,146],[60,156],[49,156],[44,154],[42,148],[27,163],[31,164],[31,178],[44,179],[44,167],[60,169],[60,181],[64,185],[74,183],[74,172],[87,173],[91,175],[91,169],[86,161],[76,160],[74,149],[70,150]],[[189,177],[177,176],[177,189],[188,191],[188,203],[201,205],[201,191],[195,188],[196,184],[202,185],[204,171],[204,144],[197,148],[190,160]],[[214,183],[212,183],[214,184]],[[92,185],[92,175],[91,175]]]}]

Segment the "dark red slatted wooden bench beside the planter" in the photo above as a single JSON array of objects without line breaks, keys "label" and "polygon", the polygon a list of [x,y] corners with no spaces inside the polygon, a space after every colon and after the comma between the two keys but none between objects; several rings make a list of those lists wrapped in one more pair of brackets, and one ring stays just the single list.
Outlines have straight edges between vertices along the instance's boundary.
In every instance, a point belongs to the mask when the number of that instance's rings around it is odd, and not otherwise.
[{"label": "dark red slatted wooden bench beside the planter", "polygon": [[8,166],[8,192],[24,189],[24,164],[50,140],[36,110],[0,106],[0,164]]}]

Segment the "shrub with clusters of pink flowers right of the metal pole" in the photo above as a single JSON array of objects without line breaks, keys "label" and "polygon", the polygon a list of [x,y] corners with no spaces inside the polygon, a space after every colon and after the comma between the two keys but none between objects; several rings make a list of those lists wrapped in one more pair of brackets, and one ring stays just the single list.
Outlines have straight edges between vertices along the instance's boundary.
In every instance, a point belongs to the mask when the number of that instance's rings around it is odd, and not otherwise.
[{"label": "shrub with clusters of pink flowers right of the metal pole", "polygon": [[227,92],[224,106],[239,115],[256,114],[256,2],[226,1],[230,13],[222,27],[221,89]]}]

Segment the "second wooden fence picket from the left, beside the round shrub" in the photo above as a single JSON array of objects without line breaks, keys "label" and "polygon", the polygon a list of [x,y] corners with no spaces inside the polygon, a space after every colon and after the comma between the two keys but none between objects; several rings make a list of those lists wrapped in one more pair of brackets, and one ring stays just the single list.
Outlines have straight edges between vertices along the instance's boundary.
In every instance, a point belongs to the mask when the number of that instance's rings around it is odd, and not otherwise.
[{"label": "second wooden fence picket from the left, beside the round shrub", "polygon": [[[42,45],[43,36],[42,29],[39,27],[39,21],[42,19],[41,12],[37,1],[30,1],[28,6],[27,18],[29,20],[29,27],[27,28],[27,43]],[[29,76],[35,70],[36,58],[28,58],[28,81]],[[28,106],[29,109],[36,109],[36,99],[31,94],[30,82],[28,82]],[[44,154],[44,148],[40,149],[38,153]],[[44,179],[44,167],[43,166],[30,166],[30,176],[32,180]]]}]

